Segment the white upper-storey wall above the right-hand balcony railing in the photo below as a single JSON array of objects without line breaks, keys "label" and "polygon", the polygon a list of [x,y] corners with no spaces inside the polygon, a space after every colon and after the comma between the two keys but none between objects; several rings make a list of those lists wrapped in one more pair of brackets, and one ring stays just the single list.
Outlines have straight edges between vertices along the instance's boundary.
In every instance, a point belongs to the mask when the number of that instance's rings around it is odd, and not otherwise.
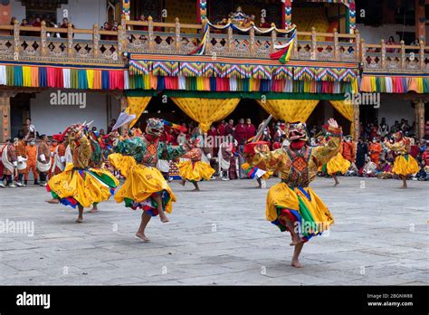
[{"label": "white upper-storey wall above the right-hand balcony railing", "polygon": [[[387,41],[390,36],[394,36],[395,42],[399,43],[401,41],[401,38],[396,33],[415,33],[415,26],[404,27],[401,24],[384,24],[378,27],[357,24],[357,28],[359,30],[361,38],[365,39],[365,43],[380,43],[382,39]],[[428,34],[429,27],[426,26],[426,43]]]}]

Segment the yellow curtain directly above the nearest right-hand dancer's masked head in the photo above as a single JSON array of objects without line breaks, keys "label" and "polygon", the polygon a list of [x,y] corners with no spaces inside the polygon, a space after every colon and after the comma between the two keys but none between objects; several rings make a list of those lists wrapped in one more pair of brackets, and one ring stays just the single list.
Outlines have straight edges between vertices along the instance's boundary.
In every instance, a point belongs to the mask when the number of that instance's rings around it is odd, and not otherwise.
[{"label": "yellow curtain directly above the nearest right-hand dancer's masked head", "polygon": [[319,100],[258,100],[262,109],[271,114],[274,119],[285,122],[302,121],[309,119]]}]

